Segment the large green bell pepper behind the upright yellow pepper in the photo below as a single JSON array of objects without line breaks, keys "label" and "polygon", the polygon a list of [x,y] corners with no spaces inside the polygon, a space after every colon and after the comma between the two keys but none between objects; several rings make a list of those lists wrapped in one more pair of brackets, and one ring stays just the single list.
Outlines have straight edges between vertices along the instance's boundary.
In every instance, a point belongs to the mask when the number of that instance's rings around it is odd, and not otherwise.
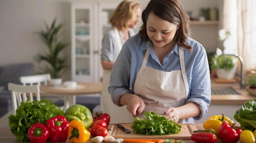
[{"label": "large green bell pepper behind the upright yellow pepper", "polygon": [[67,108],[64,116],[70,122],[73,120],[80,121],[87,130],[93,122],[91,111],[87,107],[79,104]]}]

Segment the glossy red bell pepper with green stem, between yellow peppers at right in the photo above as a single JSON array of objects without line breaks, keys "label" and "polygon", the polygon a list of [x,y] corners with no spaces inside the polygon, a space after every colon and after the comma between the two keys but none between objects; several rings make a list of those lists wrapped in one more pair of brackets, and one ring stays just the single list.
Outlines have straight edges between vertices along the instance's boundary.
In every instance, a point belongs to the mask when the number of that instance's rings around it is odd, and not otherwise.
[{"label": "glossy red bell pepper with green stem, between yellow peppers at right", "polygon": [[241,132],[241,128],[232,128],[227,121],[223,121],[220,125],[219,137],[223,143],[237,143]]}]

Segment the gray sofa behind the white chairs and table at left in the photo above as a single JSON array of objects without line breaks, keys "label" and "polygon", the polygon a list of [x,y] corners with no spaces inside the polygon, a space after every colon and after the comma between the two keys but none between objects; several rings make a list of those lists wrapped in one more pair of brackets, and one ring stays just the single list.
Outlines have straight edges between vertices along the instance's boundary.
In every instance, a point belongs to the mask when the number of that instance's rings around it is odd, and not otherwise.
[{"label": "gray sofa behind the white chairs and table at left", "polygon": [[[0,66],[0,117],[12,110],[11,92],[8,91],[8,83],[21,84],[20,76],[30,76],[34,70],[32,63],[18,63]],[[63,100],[56,96],[41,95],[41,99],[51,100],[56,106],[63,106]],[[100,103],[99,97],[76,97],[76,104],[86,106],[92,112]]]}]

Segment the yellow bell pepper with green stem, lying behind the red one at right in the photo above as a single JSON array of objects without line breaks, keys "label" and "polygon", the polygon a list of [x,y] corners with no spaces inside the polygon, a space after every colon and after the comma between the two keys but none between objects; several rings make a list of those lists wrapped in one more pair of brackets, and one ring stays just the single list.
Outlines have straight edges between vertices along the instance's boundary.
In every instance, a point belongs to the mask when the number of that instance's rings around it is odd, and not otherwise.
[{"label": "yellow bell pepper with green stem, lying behind the red one at right", "polygon": [[223,113],[222,115],[214,115],[209,117],[203,124],[204,129],[213,129],[216,130],[216,132],[219,131],[220,125],[222,124],[222,121],[226,120],[229,123],[229,126],[233,126],[235,124],[234,121],[229,119],[228,117],[224,117]]}]

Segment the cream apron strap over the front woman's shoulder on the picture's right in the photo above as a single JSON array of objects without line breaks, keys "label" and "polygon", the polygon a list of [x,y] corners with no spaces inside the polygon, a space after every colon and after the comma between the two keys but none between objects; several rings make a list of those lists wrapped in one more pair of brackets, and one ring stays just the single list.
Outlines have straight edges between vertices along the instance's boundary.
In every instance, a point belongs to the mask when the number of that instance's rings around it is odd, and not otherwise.
[{"label": "cream apron strap over the front woman's shoulder on the picture's right", "polygon": [[181,74],[182,74],[182,78],[183,78],[183,82],[184,82],[184,86],[185,86],[185,90],[186,90],[186,95],[185,95],[185,100],[186,97],[189,94],[189,83],[186,77],[186,70],[185,70],[185,62],[184,62],[184,52],[183,52],[183,48],[181,46],[179,46],[179,53],[180,53],[180,68],[181,68]]}]

